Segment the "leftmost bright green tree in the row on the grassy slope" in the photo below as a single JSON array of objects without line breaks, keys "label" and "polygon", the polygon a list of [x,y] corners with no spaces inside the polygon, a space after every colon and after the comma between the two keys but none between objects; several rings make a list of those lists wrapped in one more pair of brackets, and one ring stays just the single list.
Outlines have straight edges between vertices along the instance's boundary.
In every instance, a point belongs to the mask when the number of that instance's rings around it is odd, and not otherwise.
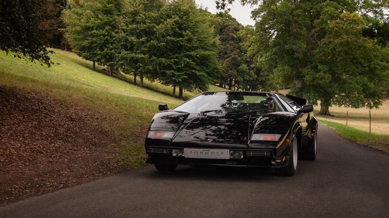
[{"label": "leftmost bright green tree in the row on the grassy slope", "polygon": [[74,53],[80,57],[111,68],[118,51],[116,35],[121,0],[69,0],[64,10],[66,37]]}]

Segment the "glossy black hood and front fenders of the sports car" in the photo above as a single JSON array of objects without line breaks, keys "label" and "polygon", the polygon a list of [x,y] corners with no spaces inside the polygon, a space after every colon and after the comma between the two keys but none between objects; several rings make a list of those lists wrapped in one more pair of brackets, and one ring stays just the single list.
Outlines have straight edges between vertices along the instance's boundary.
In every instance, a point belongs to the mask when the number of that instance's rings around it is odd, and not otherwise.
[{"label": "glossy black hood and front fenders of the sports car", "polygon": [[[274,112],[262,115],[208,115],[181,111],[157,113],[150,130],[175,131],[172,140],[146,138],[146,144],[173,147],[248,146],[254,133],[285,132],[295,113]],[[256,142],[257,143],[257,142]]]}]

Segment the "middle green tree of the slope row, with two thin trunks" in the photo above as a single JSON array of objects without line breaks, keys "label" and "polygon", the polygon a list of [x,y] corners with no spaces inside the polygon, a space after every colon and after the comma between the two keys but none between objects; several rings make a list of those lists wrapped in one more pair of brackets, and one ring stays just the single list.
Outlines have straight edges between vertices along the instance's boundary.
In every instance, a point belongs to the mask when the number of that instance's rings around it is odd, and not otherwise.
[{"label": "middle green tree of the slope row, with two thin trunks", "polygon": [[157,26],[161,23],[159,11],[164,6],[160,0],[130,0],[120,17],[117,66],[126,74],[155,80],[158,76],[156,45]]}]

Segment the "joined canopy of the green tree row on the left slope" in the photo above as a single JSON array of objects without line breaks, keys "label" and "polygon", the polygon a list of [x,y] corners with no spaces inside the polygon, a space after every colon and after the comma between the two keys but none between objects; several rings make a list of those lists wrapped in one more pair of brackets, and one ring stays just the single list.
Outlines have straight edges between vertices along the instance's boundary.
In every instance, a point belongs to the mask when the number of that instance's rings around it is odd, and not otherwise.
[{"label": "joined canopy of the green tree row on the left slope", "polygon": [[220,72],[208,14],[194,0],[79,0],[64,11],[74,52],[123,73],[205,91]]}]

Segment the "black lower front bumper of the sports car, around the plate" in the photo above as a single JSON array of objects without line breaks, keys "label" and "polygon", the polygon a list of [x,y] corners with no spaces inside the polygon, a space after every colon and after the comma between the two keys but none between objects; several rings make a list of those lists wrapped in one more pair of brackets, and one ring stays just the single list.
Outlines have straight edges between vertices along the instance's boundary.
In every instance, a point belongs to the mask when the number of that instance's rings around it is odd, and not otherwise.
[{"label": "black lower front bumper of the sports car, around the plate", "polygon": [[172,156],[172,149],[184,149],[177,147],[147,146],[146,153],[149,155],[146,163],[154,164],[179,164],[179,165],[230,165],[277,168],[284,167],[288,163],[288,156],[275,157],[275,148],[228,148],[231,150],[242,150],[241,159],[207,159],[207,158],[186,158]]}]

